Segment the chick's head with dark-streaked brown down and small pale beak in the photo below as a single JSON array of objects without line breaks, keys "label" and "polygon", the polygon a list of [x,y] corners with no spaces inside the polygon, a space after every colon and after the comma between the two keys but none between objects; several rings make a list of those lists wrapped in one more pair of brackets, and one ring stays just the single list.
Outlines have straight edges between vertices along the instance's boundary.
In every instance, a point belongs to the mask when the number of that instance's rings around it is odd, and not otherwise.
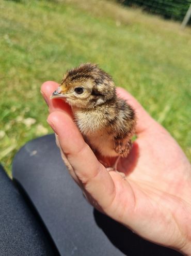
[{"label": "chick's head with dark-streaked brown down and small pale beak", "polygon": [[116,97],[112,78],[97,65],[86,63],[73,68],[63,76],[52,98],[66,98],[79,108],[93,108]]}]

